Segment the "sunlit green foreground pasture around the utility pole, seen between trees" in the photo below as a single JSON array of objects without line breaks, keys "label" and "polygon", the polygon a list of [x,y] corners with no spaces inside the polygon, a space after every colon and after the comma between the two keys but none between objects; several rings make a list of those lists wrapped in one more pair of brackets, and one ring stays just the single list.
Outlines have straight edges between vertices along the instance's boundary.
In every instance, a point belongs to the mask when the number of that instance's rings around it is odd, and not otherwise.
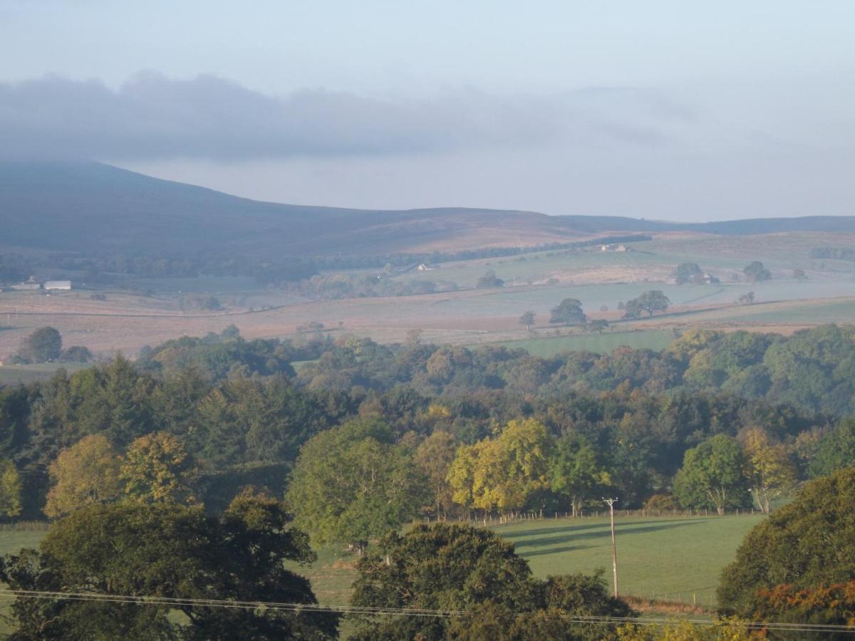
[{"label": "sunlit green foreground pasture around the utility pole, seen between trees", "polygon": [[[617,555],[621,593],[684,602],[696,595],[698,604],[715,604],[722,567],[734,559],[746,533],[759,515],[618,518]],[[604,518],[523,520],[496,526],[512,541],[536,576],[593,573],[607,569],[611,578],[609,522]],[[2,531],[0,554],[38,545],[45,532]],[[318,553],[311,567],[294,566],[308,576],[321,603],[339,605],[350,598],[356,557],[339,548]],[[654,595],[655,593],[655,595]]]}]

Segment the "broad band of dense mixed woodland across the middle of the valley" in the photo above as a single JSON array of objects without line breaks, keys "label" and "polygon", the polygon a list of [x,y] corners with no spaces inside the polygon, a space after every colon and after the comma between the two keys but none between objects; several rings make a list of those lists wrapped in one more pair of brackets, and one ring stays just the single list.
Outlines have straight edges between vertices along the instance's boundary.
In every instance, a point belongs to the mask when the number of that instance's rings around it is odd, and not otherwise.
[{"label": "broad band of dense mixed woodland across the middle of the valley", "polygon": [[[296,361],[304,362],[298,372]],[[836,446],[831,456],[823,442],[849,442],[833,428],[855,414],[853,363],[853,330],[844,326],[789,338],[692,331],[658,352],[552,358],[356,337],[247,341],[232,327],[168,341],[136,363],[120,356],[4,388],[0,457],[14,462],[23,513],[34,516],[57,482],[50,466],[63,450],[97,434],[121,455],[139,438],[167,432],[203,472],[194,481],[198,497],[221,506],[242,485],[283,491],[301,447],[357,417],[379,420],[386,442],[402,444],[405,456],[443,432],[449,462],[460,446],[534,420],[549,439],[548,456],[565,447],[562,438],[581,439],[566,444],[566,456],[590,452],[589,473],[638,506],[671,491],[687,451],[716,435],[742,438],[760,428],[769,443],[786,445],[802,477],[846,465],[848,450]],[[420,505],[450,496],[442,475],[433,472],[438,494],[419,497]],[[575,509],[577,499],[563,492],[537,502]]]}]

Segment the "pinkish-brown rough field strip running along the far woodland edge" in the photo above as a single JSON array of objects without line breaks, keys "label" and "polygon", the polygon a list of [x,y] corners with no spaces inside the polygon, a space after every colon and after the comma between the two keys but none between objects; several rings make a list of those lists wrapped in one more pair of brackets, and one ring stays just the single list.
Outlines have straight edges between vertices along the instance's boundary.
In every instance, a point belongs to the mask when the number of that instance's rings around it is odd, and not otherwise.
[{"label": "pinkish-brown rough field strip running along the far woodland edge", "polygon": [[[652,286],[652,285],[651,285]],[[469,290],[410,297],[350,298],[295,303],[282,298],[272,309],[250,310],[235,306],[217,312],[182,312],[177,299],[110,294],[107,301],[91,300],[85,292],[59,296],[38,296],[30,292],[0,295],[0,359],[10,354],[36,327],[55,326],[63,344],[83,344],[100,356],[121,351],[134,356],[140,347],[161,343],[181,335],[203,336],[236,325],[245,338],[286,338],[298,336],[298,326],[321,321],[327,332],[354,333],[393,343],[404,340],[407,332],[420,329],[423,338],[437,343],[475,344],[499,342],[560,333],[582,333],[578,328],[555,328],[540,316],[534,334],[517,322],[518,314],[499,305],[491,309],[479,299],[522,293],[543,296],[545,288],[520,286],[502,290]],[[548,290],[546,290],[548,293]],[[606,318],[613,331],[681,330],[690,326],[710,329],[746,329],[755,332],[792,333],[829,321],[846,321],[855,310],[855,298],[795,300],[739,306],[733,303],[678,305],[666,315],[651,319],[621,321],[622,312],[593,312],[591,318]],[[522,309],[521,311],[523,311]],[[823,311],[825,310],[825,311]],[[828,311],[830,310],[830,312]],[[833,313],[832,313],[833,312]]]}]

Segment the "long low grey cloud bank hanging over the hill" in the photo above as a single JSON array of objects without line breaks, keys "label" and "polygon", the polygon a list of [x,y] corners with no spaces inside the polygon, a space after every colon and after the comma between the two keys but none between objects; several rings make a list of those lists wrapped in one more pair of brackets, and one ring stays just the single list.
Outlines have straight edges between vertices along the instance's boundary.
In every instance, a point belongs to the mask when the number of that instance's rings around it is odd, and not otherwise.
[{"label": "long low grey cloud bank hanging over the hill", "polygon": [[384,156],[554,144],[667,144],[693,115],[651,91],[552,97],[447,91],[380,100],[275,97],[203,75],[138,74],[113,90],[55,76],[0,83],[0,155],[156,160]]}]

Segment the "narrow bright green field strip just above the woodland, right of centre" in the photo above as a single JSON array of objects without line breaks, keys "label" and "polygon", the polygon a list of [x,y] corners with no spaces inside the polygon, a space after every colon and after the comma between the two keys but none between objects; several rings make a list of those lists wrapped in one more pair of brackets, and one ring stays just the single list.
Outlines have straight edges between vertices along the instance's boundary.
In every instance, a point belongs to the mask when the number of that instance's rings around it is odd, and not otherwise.
[{"label": "narrow bright green field strip just above the woodland, right of centre", "polygon": [[670,330],[651,330],[649,332],[604,332],[603,334],[588,332],[572,336],[510,340],[498,344],[510,349],[526,350],[532,356],[549,358],[563,352],[580,350],[606,354],[621,345],[627,345],[636,350],[641,348],[663,350],[674,339],[674,332]]}]

